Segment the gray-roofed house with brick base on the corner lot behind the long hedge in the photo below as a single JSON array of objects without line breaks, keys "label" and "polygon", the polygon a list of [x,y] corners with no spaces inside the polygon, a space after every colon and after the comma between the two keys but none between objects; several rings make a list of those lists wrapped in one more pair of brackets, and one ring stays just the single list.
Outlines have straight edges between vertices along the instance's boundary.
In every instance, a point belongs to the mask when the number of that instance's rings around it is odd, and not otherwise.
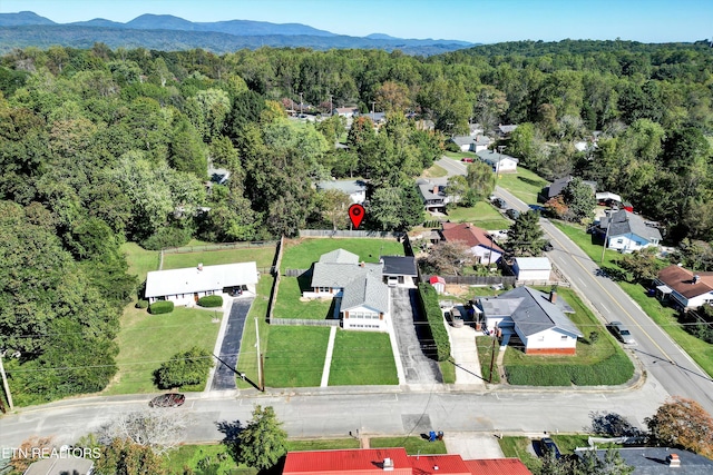
[{"label": "gray-roofed house with brick base on the corner lot behind the long hedge", "polygon": [[565,315],[574,314],[567,303],[527,286],[517,287],[498,297],[482,297],[477,303],[486,327],[502,334],[502,346],[517,336],[526,354],[574,355],[583,334]]}]

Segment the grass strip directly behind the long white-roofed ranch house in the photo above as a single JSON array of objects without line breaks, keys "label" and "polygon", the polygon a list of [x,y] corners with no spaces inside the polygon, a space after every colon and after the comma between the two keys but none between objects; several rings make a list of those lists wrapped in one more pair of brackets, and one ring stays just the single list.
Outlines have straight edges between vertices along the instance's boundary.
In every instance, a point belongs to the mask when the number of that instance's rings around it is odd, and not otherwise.
[{"label": "grass strip directly behind the long white-roofed ranch house", "polygon": [[219,264],[251,261],[255,261],[257,267],[270,267],[274,257],[274,246],[164,254],[164,269],[196,267],[199,263],[203,263],[204,266],[217,266]]}]

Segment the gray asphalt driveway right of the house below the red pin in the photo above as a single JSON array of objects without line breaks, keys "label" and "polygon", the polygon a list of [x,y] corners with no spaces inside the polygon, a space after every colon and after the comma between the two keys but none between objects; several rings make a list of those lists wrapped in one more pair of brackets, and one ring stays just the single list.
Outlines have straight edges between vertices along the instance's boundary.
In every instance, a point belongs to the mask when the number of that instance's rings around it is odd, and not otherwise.
[{"label": "gray asphalt driveway right of the house below the red pin", "polygon": [[414,288],[391,287],[391,318],[408,384],[442,383],[436,360],[423,354],[432,348],[428,321],[422,316]]}]

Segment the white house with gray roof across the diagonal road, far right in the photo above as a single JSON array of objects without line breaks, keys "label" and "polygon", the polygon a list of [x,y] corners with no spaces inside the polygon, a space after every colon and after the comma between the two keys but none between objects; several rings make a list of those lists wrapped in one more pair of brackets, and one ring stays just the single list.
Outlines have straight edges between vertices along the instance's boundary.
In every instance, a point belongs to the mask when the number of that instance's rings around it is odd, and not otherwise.
[{"label": "white house with gray roof across the diagonal road, far right", "polygon": [[641,216],[625,209],[608,212],[599,220],[595,228],[602,238],[606,237],[605,246],[619,253],[633,253],[648,246],[658,246],[662,236],[657,228],[646,226]]}]

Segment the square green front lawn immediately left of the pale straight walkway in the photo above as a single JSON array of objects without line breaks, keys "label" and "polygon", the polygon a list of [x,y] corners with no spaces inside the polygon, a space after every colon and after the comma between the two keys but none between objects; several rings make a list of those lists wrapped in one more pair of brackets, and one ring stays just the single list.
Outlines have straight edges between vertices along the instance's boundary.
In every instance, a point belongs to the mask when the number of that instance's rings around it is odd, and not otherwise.
[{"label": "square green front lawn immediately left of the pale straight walkway", "polygon": [[328,327],[271,327],[265,355],[265,386],[319,386],[329,335]]}]

